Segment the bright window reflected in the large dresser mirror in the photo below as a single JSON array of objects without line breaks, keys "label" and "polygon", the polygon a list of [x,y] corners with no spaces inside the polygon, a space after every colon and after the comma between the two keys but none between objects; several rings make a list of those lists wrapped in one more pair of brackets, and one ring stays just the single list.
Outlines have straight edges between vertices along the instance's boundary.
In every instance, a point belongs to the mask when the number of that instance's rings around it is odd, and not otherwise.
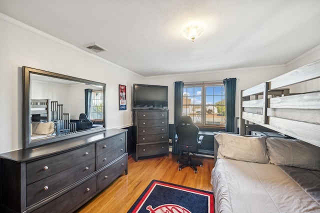
[{"label": "bright window reflected in the large dresser mirror", "polygon": [[91,96],[90,120],[103,120],[103,98],[101,89],[93,89]]}]

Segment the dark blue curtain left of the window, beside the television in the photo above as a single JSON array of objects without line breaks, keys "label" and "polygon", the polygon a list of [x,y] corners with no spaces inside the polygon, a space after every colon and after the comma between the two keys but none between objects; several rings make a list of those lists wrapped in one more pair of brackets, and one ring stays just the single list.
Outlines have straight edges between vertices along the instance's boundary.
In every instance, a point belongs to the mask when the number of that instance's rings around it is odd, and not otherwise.
[{"label": "dark blue curtain left of the window, beside the television", "polygon": [[178,146],[175,141],[175,127],[182,115],[183,86],[184,82],[182,81],[174,82],[174,142],[172,143],[172,154],[179,153]]}]

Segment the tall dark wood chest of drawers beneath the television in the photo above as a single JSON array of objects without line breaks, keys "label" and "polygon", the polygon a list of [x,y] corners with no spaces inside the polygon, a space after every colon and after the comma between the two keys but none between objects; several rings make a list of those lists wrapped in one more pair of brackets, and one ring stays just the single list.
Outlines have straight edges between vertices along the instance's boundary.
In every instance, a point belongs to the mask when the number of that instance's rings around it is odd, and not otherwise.
[{"label": "tall dark wood chest of drawers beneath the television", "polygon": [[169,154],[168,109],[133,109],[135,161],[138,157]]}]

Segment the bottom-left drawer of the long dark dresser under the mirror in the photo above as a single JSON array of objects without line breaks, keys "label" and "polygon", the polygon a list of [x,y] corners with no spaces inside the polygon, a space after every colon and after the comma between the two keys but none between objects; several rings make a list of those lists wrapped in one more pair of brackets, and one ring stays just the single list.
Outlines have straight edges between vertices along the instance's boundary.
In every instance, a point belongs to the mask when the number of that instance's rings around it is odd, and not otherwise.
[{"label": "bottom-left drawer of the long dark dresser under the mirror", "polygon": [[35,213],[56,213],[56,212],[68,212],[73,209],[74,206],[78,206],[83,201],[90,199],[96,192],[96,176],[85,181],[81,185],[66,192],[62,196],[54,199],[53,201],[41,206],[40,208],[32,211]]}]

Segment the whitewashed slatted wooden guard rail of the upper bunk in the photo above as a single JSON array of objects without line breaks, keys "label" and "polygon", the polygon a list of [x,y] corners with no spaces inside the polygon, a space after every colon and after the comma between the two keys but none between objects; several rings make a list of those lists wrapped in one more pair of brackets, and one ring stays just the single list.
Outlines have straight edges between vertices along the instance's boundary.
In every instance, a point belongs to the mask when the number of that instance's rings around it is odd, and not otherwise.
[{"label": "whitewashed slatted wooden guard rail of the upper bunk", "polygon": [[320,81],[320,60],[241,90],[240,135],[246,134],[246,124],[258,124],[320,146],[320,88],[301,94],[288,94],[282,88],[315,78]]}]

